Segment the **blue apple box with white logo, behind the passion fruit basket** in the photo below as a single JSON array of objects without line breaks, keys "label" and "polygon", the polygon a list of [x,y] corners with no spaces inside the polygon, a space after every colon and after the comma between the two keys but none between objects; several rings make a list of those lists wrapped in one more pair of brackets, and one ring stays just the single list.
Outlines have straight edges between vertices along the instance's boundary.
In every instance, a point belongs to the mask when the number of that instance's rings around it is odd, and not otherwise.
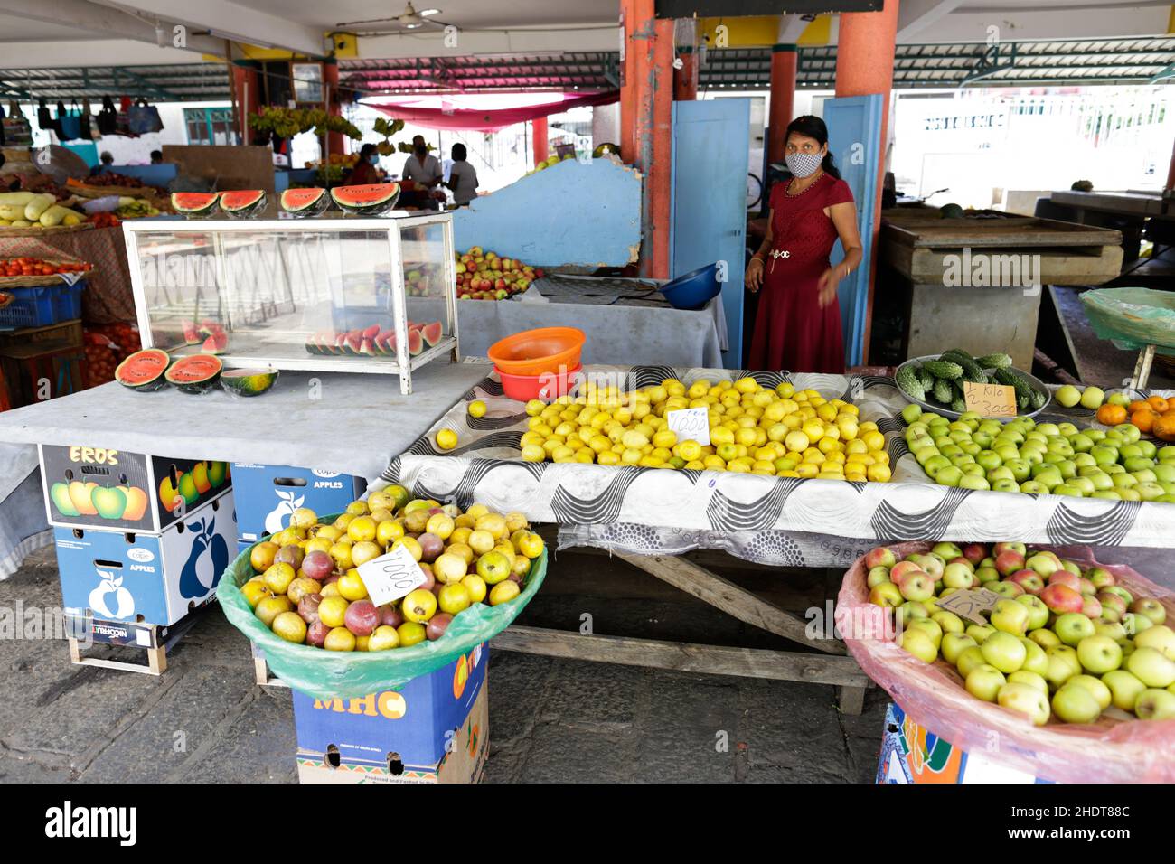
[{"label": "blue apple box with white logo, behind the passion fruit basket", "polygon": [[289,527],[290,514],[309,507],[320,516],[342,513],[367,489],[349,474],[293,466],[233,463],[239,540],[254,543]]}]

